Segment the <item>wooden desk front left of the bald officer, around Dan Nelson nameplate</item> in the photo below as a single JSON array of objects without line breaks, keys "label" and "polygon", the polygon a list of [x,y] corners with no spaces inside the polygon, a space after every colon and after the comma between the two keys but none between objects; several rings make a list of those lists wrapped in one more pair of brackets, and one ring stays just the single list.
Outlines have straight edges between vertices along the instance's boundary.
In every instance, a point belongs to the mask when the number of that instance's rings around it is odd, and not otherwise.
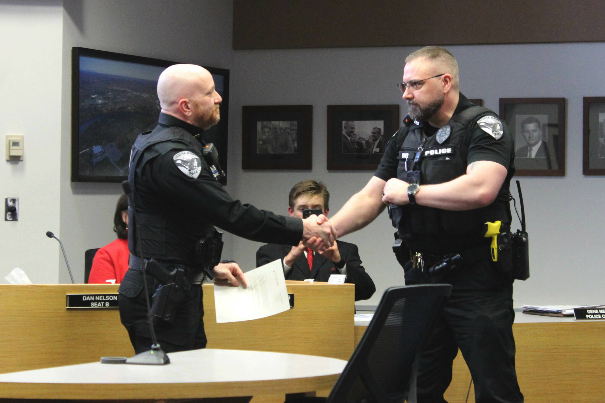
[{"label": "wooden desk front left of the bald officer, around Dan Nelson nameplate", "polygon": [[0,285],[0,373],[131,356],[113,309],[65,309],[65,294],[117,292],[118,285]]}]

